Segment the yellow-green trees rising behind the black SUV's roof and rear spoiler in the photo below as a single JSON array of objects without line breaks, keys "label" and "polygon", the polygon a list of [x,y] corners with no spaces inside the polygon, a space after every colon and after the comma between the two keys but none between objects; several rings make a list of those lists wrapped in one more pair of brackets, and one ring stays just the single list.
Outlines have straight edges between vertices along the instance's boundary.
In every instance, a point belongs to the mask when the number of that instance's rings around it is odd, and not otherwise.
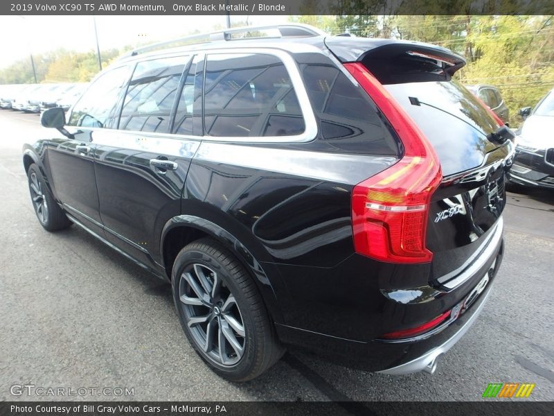
[{"label": "yellow-green trees rising behind the black SUV's roof and rear spoiler", "polygon": [[[498,1],[506,10],[517,5],[515,0]],[[311,10],[311,3],[314,2],[305,0],[303,5]],[[323,16],[301,16],[292,17],[291,21],[312,24],[332,34],[348,31],[358,36],[417,40],[451,49],[467,60],[456,77],[466,85],[497,87],[510,108],[512,127],[521,123],[519,108],[535,105],[554,87],[553,16],[469,15],[472,11],[488,12],[497,4],[492,0],[483,1],[480,10],[473,9],[472,0],[410,0],[409,4],[405,2],[410,10],[444,10],[444,3],[448,3],[453,12],[465,14],[386,15],[384,3],[340,0],[334,8],[336,17],[325,16],[322,21]],[[352,15],[356,10],[366,10],[367,14]]]}]

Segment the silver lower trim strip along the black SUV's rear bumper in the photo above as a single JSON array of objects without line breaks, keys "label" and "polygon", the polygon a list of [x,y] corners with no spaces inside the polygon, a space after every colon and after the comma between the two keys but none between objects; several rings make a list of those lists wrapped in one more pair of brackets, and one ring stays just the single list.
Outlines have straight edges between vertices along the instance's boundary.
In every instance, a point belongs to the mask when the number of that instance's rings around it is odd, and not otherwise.
[{"label": "silver lower trim strip along the black SUV's rear bumper", "polygon": [[433,374],[436,369],[437,365],[437,358],[441,354],[445,354],[449,349],[454,347],[454,345],[462,338],[462,336],[467,332],[468,329],[474,324],[474,322],[477,320],[477,317],[479,316],[479,313],[481,313],[481,310],[483,309],[483,306],[485,306],[485,302],[488,298],[488,295],[490,294],[490,287],[488,288],[488,291],[486,293],[483,293],[481,295],[481,303],[479,306],[476,307],[475,311],[473,312],[473,315],[470,316],[469,319],[467,319],[461,327],[454,333],[448,340],[446,340],[443,344],[439,345],[438,347],[431,349],[431,351],[427,352],[426,354],[423,354],[422,356],[413,359],[412,361],[409,361],[408,363],[404,363],[401,365],[397,365],[396,367],[389,368],[387,370],[379,371],[383,374],[391,374],[391,375],[402,375],[402,374],[411,374],[414,372],[420,372],[420,371],[426,371],[430,374]]}]

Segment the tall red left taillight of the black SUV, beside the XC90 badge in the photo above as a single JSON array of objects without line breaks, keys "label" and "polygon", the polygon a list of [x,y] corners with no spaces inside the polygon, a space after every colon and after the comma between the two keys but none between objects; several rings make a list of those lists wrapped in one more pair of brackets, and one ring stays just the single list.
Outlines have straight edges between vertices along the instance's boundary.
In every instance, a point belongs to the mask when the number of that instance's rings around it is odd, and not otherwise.
[{"label": "tall red left taillight of the black SUV, beside the XC90 badge", "polygon": [[357,184],[352,191],[352,227],[356,252],[392,263],[425,263],[431,195],[443,174],[433,148],[394,98],[359,62],[346,69],[369,94],[396,130],[404,157]]}]

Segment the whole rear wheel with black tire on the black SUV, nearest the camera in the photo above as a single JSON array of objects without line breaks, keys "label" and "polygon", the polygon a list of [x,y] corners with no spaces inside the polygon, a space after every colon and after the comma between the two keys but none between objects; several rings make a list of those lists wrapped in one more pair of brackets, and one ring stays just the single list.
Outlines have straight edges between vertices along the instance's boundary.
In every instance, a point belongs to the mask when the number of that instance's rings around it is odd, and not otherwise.
[{"label": "whole rear wheel with black tire on the black SUV, nearest the camera", "polygon": [[172,289],[190,344],[225,379],[254,379],[283,355],[256,284],[214,239],[190,243],[177,254]]}]

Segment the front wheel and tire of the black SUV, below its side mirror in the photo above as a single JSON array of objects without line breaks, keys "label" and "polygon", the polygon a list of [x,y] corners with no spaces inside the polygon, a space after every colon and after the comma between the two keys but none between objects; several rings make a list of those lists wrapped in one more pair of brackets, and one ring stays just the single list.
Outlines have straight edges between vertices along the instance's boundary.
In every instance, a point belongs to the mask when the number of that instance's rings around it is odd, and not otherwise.
[{"label": "front wheel and tire of the black SUV, below its side mirror", "polygon": [[36,164],[31,164],[27,171],[30,199],[33,202],[35,214],[40,225],[46,231],[60,231],[71,226],[71,221],[64,211],[57,205],[50,189],[44,182],[44,177]]}]

